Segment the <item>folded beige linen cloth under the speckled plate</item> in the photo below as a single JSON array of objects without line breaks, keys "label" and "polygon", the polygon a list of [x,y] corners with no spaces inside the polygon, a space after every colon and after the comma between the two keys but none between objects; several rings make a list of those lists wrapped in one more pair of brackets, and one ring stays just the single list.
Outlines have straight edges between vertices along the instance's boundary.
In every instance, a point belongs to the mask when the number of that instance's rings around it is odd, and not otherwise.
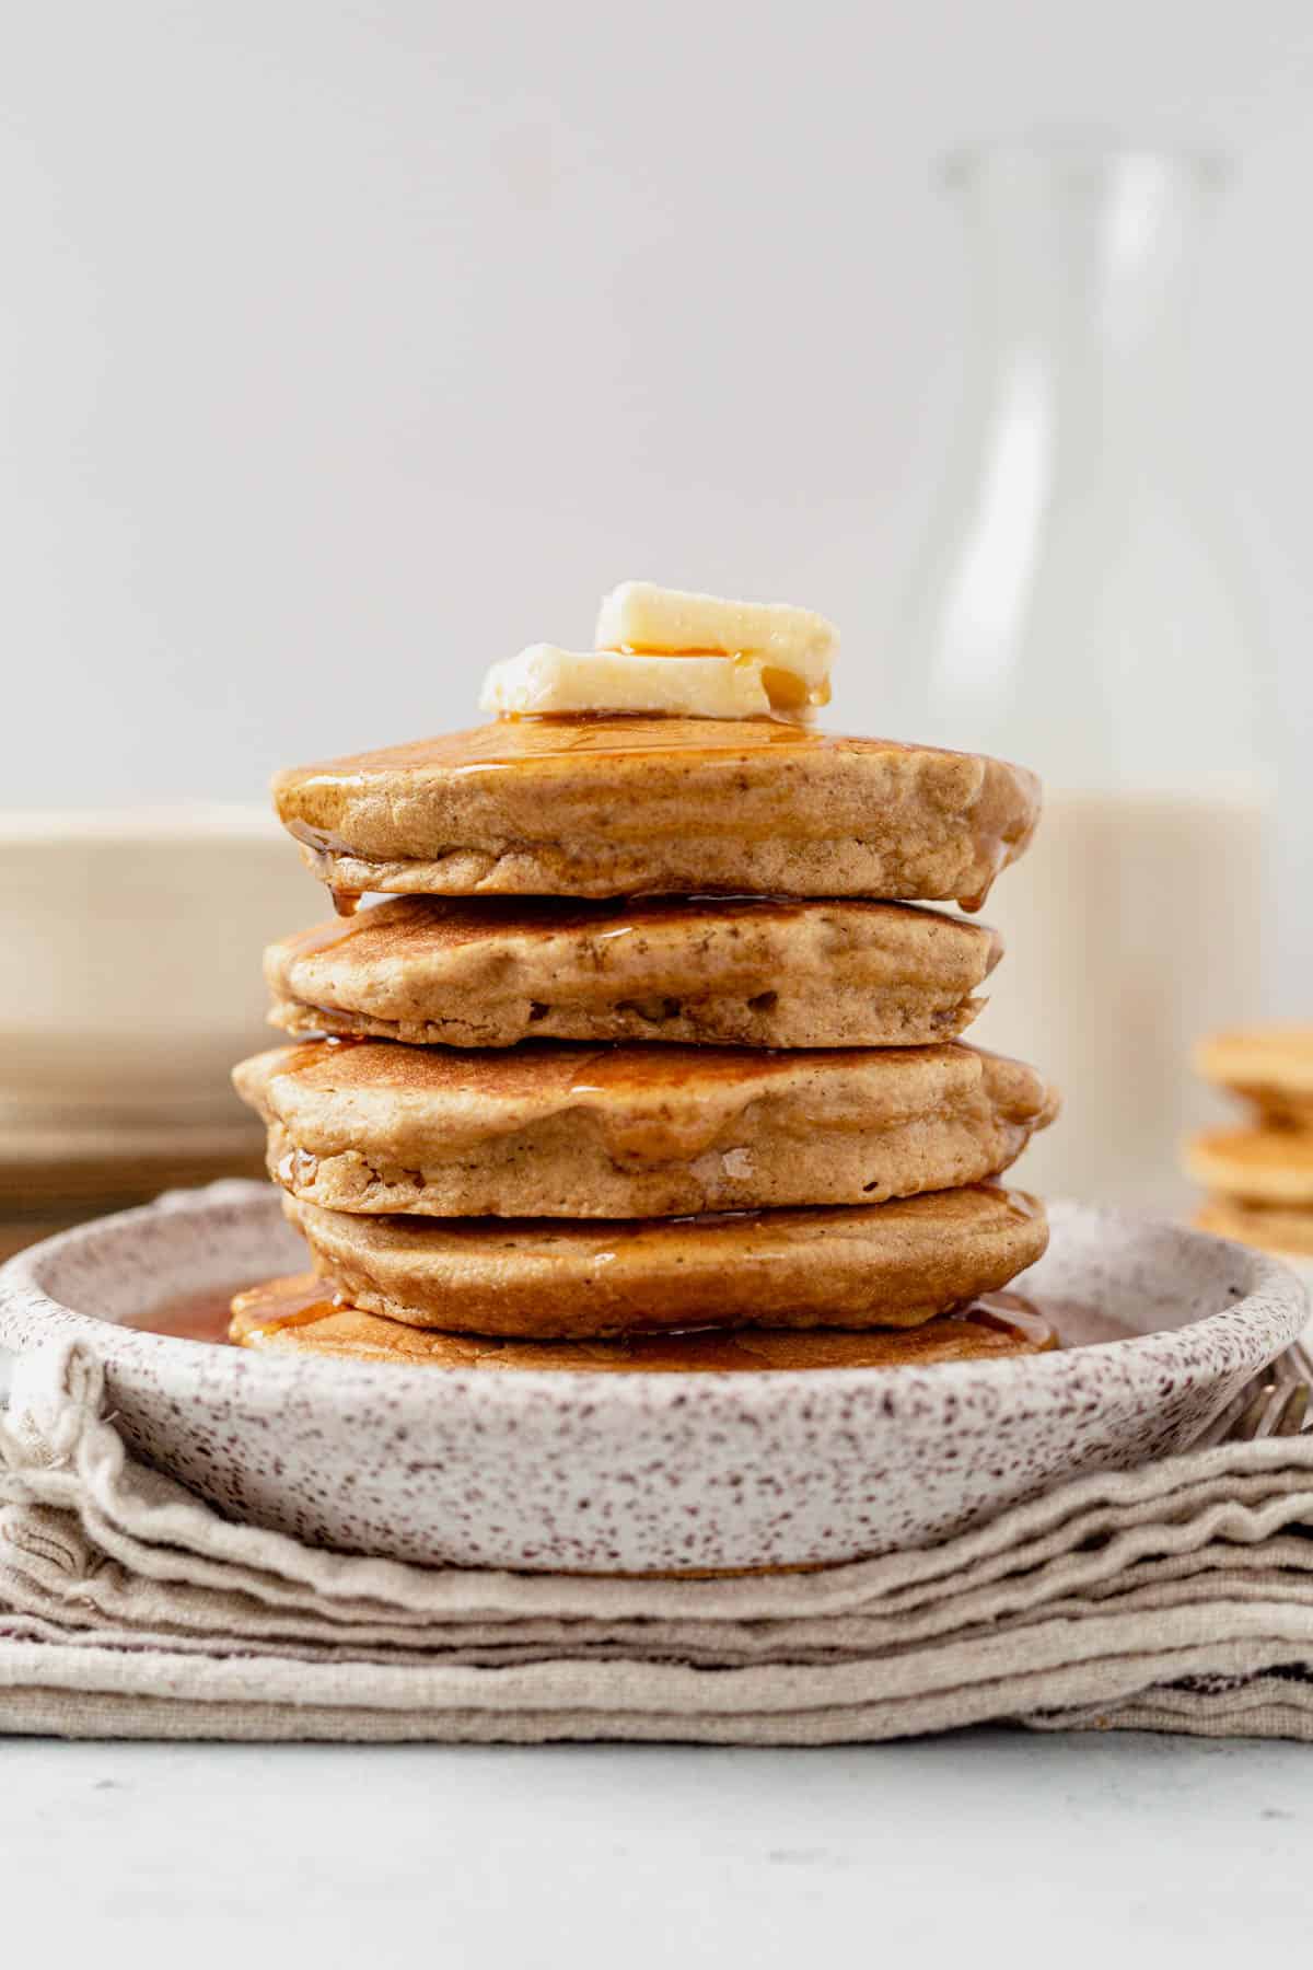
[{"label": "folded beige linen cloth under the speckled plate", "polygon": [[51,1342],[0,1416],[0,1730],[843,1743],[1313,1738],[1313,1434],[1083,1478],[919,1552],[711,1580],[404,1566],[220,1519]]}]

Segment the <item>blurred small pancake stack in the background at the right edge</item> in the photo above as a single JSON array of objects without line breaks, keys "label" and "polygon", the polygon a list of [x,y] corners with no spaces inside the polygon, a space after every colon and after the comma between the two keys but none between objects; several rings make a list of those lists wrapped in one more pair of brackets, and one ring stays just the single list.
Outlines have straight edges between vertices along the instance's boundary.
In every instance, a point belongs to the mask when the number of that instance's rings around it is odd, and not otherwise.
[{"label": "blurred small pancake stack in the background at the right edge", "polygon": [[1185,1145],[1209,1200],[1195,1223],[1303,1265],[1313,1261],[1313,1026],[1248,1026],[1195,1048],[1207,1082],[1250,1119]]}]

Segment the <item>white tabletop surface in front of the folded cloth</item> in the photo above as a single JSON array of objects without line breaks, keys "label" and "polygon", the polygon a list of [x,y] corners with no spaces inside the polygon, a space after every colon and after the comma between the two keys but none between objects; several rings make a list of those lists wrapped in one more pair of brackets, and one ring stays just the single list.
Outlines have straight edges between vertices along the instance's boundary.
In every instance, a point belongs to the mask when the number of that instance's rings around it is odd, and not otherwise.
[{"label": "white tabletop surface in front of the folded cloth", "polygon": [[[14,1964],[1262,1964],[1313,1751],[1138,1736],[837,1751],[0,1740]],[[1006,1946],[1006,1958],[1004,1958]],[[85,1952],[85,1956],[83,1956]]]}]

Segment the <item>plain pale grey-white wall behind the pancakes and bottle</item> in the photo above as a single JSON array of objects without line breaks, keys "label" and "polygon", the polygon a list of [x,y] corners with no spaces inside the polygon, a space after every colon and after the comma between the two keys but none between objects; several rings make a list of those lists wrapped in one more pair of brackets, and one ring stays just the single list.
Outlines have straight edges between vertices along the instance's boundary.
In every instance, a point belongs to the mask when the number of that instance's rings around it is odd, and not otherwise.
[{"label": "plain pale grey-white wall behind the pancakes and bottle", "polygon": [[878,727],[931,164],[1081,120],[1238,156],[1193,359],[1307,890],[1311,108],[1307,0],[0,0],[0,800],[260,798],[632,573],[835,615]]}]

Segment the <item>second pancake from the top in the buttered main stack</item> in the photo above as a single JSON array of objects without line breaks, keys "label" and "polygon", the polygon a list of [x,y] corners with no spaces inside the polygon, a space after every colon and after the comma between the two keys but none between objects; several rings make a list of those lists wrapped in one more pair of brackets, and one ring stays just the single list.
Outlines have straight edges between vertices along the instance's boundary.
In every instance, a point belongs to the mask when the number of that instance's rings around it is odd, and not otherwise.
[{"label": "second pancake from the top in the buttered main stack", "polygon": [[898,902],[394,896],[281,938],[264,973],[297,1034],[919,1046],[976,1017],[1000,952],[984,924]]}]

